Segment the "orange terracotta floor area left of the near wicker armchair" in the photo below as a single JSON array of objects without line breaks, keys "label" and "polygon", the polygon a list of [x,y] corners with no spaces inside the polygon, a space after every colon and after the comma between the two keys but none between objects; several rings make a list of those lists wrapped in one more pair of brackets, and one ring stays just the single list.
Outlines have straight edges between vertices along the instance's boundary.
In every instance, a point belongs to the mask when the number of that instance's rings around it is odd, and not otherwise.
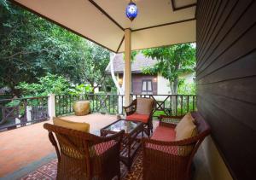
[{"label": "orange terracotta floor area left of the near wicker armchair", "polygon": [[55,151],[43,125],[38,123],[0,133],[0,177]]}]

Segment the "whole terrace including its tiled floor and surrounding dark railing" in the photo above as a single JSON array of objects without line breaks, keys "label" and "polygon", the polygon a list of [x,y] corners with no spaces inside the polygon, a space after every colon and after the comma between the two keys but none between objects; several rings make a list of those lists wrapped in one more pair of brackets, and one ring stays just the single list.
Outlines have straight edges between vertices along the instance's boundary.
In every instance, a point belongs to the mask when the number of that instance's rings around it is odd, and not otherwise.
[{"label": "whole terrace including its tiled floor and surrounding dark railing", "polygon": [[[131,95],[131,98],[137,96],[148,95]],[[157,117],[160,114],[181,115],[196,109],[195,96],[149,95],[148,97],[153,98],[157,104],[154,112],[154,129],[158,125]],[[90,100],[90,115],[73,115],[73,102],[84,99]],[[40,168],[46,168],[45,165],[53,165],[53,162],[56,162],[55,149],[49,142],[48,132],[43,128],[45,122],[52,124],[49,116],[53,110],[50,108],[55,108],[55,115],[61,116],[62,119],[90,123],[90,133],[99,135],[102,127],[116,120],[116,114],[124,113],[121,108],[124,103],[123,99],[123,96],[112,94],[89,94],[2,100],[1,108],[4,119],[0,126],[2,131],[0,146],[4,148],[0,149],[3,157],[0,160],[0,165],[2,165],[0,177],[19,179],[32,176],[34,173],[42,173],[42,177],[55,179],[55,166],[49,168],[47,173],[40,171]],[[55,107],[51,106],[52,100],[55,100]],[[175,103],[170,102],[173,100]],[[12,104],[14,105],[10,106]],[[202,165],[205,164],[202,154],[202,150],[199,150],[195,156],[194,179],[205,179],[204,177],[209,176],[207,166],[202,171]],[[130,172],[126,170],[125,165],[121,165],[122,179],[131,177],[135,172],[142,176],[141,156],[137,156]],[[200,168],[196,168],[196,165],[200,165]]]}]

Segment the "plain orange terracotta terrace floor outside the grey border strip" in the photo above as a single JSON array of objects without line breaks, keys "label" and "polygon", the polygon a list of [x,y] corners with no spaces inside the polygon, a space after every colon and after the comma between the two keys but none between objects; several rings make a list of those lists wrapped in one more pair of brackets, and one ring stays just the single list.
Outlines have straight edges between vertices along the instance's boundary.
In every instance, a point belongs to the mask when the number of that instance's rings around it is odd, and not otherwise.
[{"label": "plain orange terracotta terrace floor outside the grey border strip", "polygon": [[[88,122],[92,132],[109,125],[116,120],[116,116],[90,114],[79,117],[67,116],[63,119]],[[52,121],[46,122],[52,123]],[[48,132],[43,128],[44,123],[0,132],[0,177],[55,152],[54,147],[49,142]]]}]

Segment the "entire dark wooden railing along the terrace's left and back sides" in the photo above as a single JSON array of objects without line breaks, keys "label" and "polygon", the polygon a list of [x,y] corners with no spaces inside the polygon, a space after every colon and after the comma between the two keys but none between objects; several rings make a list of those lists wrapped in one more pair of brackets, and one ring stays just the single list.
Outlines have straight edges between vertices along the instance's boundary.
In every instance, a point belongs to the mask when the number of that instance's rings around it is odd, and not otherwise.
[{"label": "entire dark wooden railing along the terrace's left and back sides", "polygon": [[[193,95],[131,95],[131,100],[141,97],[156,102],[154,117],[160,114],[183,115],[195,111],[196,96]],[[32,125],[49,118],[48,96],[0,100],[0,131]],[[124,114],[124,96],[115,94],[85,94],[81,96],[55,96],[55,115],[73,113],[73,103],[90,101],[91,113]],[[48,107],[49,106],[49,107]],[[53,117],[51,115],[51,117]]]}]

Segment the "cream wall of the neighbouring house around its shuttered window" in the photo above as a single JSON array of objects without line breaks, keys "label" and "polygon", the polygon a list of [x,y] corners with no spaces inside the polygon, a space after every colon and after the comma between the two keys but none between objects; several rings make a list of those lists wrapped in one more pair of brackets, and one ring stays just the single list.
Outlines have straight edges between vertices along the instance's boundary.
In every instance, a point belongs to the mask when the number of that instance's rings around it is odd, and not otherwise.
[{"label": "cream wall of the neighbouring house around its shuttered window", "polygon": [[157,82],[154,82],[154,78],[157,78],[156,75],[144,75],[144,74],[132,74],[131,81],[132,81],[132,91],[135,95],[142,94],[142,85],[143,80],[152,80],[153,86],[153,94],[157,94]]}]

